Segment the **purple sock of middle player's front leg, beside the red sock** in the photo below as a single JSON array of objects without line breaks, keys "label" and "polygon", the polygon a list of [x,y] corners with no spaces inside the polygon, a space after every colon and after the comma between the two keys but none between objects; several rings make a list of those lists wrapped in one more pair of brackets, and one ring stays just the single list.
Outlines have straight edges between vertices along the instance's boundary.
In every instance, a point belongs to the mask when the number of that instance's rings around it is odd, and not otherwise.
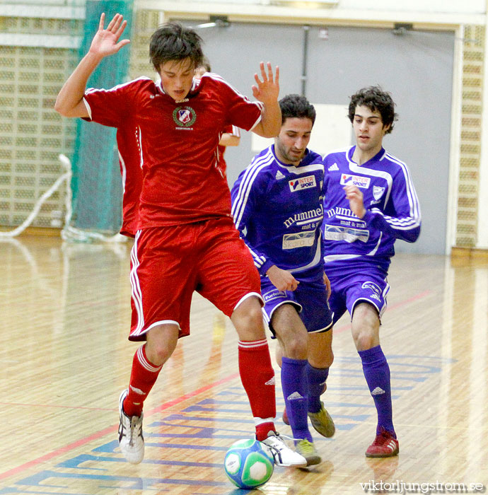
[{"label": "purple sock of middle player's front leg, beside the red sock", "polygon": [[281,359],[281,389],[294,438],[312,441],[308,430],[306,359]]}]

